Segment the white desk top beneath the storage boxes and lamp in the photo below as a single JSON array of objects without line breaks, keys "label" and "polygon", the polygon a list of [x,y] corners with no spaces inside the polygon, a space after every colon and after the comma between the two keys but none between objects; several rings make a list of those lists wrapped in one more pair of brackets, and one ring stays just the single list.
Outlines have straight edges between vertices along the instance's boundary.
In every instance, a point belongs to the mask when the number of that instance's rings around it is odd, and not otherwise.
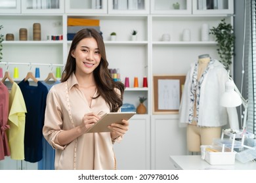
[{"label": "white desk top beneath the storage boxes and lamp", "polygon": [[171,163],[178,170],[256,170],[256,162],[241,163],[236,160],[234,165],[210,165],[201,156],[170,156]]}]

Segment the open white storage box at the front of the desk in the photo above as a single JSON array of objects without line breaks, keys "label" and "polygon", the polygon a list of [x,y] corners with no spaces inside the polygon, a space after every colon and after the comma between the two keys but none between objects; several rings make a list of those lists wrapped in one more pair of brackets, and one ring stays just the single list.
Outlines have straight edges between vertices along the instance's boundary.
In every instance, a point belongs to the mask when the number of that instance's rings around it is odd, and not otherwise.
[{"label": "open white storage box at the front of the desk", "polygon": [[230,148],[221,146],[201,146],[202,159],[205,159],[210,165],[234,165],[236,152],[231,152]]}]

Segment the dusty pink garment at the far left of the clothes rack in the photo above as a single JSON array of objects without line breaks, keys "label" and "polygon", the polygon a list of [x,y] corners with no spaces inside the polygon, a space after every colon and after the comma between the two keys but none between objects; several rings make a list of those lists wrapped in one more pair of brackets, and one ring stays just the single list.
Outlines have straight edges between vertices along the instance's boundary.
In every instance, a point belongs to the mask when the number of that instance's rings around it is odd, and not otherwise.
[{"label": "dusty pink garment at the far left of the clothes rack", "polygon": [[7,86],[0,81],[0,160],[10,156],[10,148],[7,139],[7,125],[9,114],[9,91]]}]

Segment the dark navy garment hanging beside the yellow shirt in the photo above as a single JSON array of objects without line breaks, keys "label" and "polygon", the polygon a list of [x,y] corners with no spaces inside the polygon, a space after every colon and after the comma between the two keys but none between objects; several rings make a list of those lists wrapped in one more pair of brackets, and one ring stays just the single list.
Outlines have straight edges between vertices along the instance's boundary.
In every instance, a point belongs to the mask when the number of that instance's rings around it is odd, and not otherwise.
[{"label": "dark navy garment hanging beside the yellow shirt", "polygon": [[18,86],[20,86],[27,108],[24,134],[24,160],[35,163],[43,158],[42,130],[45,121],[48,90],[40,81],[37,82],[37,86],[31,86],[28,80],[22,80]]}]

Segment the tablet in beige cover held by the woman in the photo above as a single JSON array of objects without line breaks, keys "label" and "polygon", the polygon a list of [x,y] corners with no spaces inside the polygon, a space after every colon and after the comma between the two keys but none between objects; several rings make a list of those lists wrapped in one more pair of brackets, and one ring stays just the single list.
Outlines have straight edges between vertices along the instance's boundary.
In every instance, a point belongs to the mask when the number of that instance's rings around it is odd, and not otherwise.
[{"label": "tablet in beige cover held by the woman", "polygon": [[87,129],[86,133],[110,132],[108,128],[110,124],[121,124],[122,120],[129,120],[136,112],[108,112],[96,122],[93,126]]}]

